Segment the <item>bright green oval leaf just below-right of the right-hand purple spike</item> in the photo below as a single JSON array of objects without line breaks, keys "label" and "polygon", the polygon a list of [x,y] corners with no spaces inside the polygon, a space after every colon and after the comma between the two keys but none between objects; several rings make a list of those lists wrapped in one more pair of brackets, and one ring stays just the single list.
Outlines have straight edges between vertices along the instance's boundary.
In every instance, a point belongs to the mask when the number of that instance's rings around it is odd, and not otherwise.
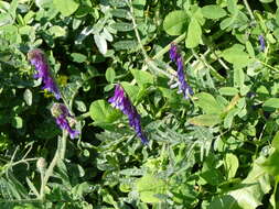
[{"label": "bright green oval leaf just below-right of the right-hand purple spike", "polygon": [[216,99],[207,94],[207,92],[200,92],[196,94],[195,97],[197,100],[194,103],[203,109],[203,111],[207,114],[219,114],[223,111],[222,106],[216,101]]}]

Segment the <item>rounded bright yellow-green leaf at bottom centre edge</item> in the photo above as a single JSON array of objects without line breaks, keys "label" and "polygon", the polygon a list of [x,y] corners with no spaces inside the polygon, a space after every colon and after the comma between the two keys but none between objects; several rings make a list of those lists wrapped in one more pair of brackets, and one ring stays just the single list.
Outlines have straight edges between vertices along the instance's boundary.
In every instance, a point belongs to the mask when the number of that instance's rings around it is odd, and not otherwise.
[{"label": "rounded bright yellow-green leaf at bottom centre edge", "polygon": [[149,204],[163,201],[163,199],[159,197],[160,195],[165,195],[165,182],[151,175],[146,175],[139,178],[136,183],[137,191],[140,195],[141,201]]}]

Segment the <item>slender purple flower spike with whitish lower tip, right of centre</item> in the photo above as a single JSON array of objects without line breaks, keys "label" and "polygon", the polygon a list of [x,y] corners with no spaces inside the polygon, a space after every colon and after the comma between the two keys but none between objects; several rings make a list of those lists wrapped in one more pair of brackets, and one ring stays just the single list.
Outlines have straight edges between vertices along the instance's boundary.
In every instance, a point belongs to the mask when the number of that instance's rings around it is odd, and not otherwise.
[{"label": "slender purple flower spike with whitish lower tip, right of centre", "polygon": [[179,92],[182,92],[185,99],[194,95],[193,89],[189,86],[184,76],[184,64],[181,54],[179,53],[178,46],[175,44],[171,45],[170,58],[178,66],[178,79],[179,79]]}]

